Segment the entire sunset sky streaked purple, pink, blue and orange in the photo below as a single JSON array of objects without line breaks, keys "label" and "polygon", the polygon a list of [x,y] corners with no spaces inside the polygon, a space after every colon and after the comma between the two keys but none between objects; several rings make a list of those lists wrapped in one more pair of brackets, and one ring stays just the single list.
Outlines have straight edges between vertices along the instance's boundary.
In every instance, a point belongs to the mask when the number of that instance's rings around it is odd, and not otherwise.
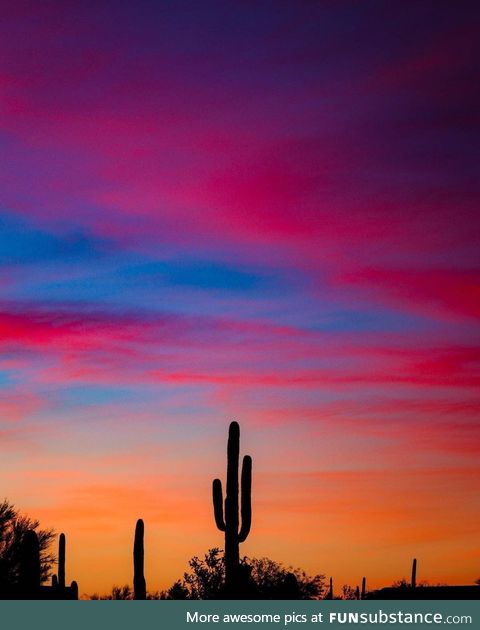
[{"label": "entire sunset sky streaked purple, pink, blue and orange", "polygon": [[480,576],[476,18],[1,2],[0,497],[80,593],[131,583],[139,517],[151,590],[222,547],[232,419],[242,554]]}]

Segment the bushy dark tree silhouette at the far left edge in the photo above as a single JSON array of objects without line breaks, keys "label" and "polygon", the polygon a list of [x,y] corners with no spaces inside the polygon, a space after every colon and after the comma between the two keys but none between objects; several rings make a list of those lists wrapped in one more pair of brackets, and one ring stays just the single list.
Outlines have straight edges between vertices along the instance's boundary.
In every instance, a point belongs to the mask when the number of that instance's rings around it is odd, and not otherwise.
[{"label": "bushy dark tree silhouette at the far left edge", "polygon": [[55,556],[50,545],[55,538],[52,529],[39,529],[35,519],[20,514],[6,499],[0,503],[0,588],[18,584],[22,560],[22,542],[28,531],[37,534],[40,552],[40,581],[45,582],[51,572]]}]

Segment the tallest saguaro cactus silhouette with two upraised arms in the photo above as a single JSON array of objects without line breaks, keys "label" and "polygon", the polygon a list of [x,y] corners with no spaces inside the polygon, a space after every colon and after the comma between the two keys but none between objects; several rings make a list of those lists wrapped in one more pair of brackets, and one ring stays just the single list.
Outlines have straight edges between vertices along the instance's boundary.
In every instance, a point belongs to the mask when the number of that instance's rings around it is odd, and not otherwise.
[{"label": "tallest saguaro cactus silhouette with two upraised arms", "polygon": [[[220,479],[213,481],[213,510],[218,529],[225,532],[225,586],[227,593],[233,596],[240,589],[239,544],[244,542],[250,533],[252,524],[252,458],[245,455],[241,476],[241,526],[238,513],[238,463],[240,453],[240,427],[232,422],[228,431],[227,444],[227,492],[225,510]],[[224,514],[225,512],[225,514]]]}]

